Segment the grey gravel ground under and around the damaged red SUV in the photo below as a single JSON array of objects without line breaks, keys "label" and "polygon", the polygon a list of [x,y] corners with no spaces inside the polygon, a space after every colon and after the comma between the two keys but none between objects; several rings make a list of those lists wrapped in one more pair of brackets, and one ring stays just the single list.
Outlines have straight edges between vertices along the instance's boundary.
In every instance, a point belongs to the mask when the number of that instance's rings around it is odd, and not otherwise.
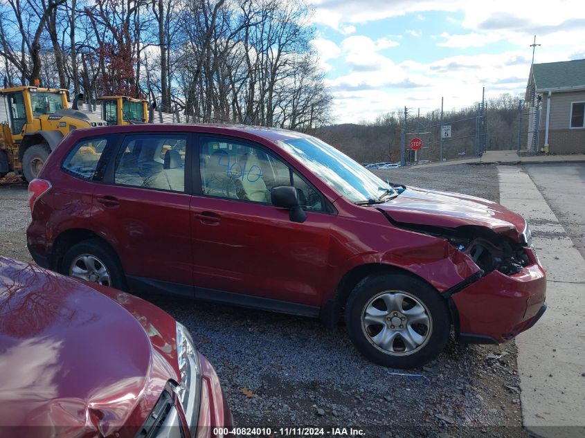
[{"label": "grey gravel ground under and around the damaged red SUV", "polygon": [[[495,166],[385,174],[406,185],[498,201]],[[0,187],[2,254],[30,261],[24,235],[28,219],[24,186]],[[433,363],[404,372],[366,361],[342,326],[328,330],[308,318],[181,298],[149,299],[190,329],[217,369],[235,426],[273,431],[320,426],[325,435],[330,427],[353,427],[368,437],[393,438],[527,436],[520,427],[514,343],[460,347],[451,341]]]}]

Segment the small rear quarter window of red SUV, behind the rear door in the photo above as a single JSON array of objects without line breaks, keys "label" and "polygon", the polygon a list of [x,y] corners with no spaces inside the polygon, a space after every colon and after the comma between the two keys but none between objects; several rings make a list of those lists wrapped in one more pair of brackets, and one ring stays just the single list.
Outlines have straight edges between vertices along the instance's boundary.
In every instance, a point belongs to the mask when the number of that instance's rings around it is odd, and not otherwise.
[{"label": "small rear quarter window of red SUV, behind the rear door", "polygon": [[65,157],[62,169],[66,172],[87,180],[102,178],[100,160],[107,161],[107,138],[91,138],[82,140],[75,145]]}]

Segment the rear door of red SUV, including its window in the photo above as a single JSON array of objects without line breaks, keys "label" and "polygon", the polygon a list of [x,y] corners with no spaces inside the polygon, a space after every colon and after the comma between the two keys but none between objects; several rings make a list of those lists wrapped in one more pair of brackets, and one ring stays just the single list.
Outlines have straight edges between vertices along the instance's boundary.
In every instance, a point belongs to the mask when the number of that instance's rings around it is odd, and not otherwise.
[{"label": "rear door of red SUV, including its window", "polygon": [[181,132],[127,134],[93,192],[92,219],[131,288],[192,296],[188,140]]}]

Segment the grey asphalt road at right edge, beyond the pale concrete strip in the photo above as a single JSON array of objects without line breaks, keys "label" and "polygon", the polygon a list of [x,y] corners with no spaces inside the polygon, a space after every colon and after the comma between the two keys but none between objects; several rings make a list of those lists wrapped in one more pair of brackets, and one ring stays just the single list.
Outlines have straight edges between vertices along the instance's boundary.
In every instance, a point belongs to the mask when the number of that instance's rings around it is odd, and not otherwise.
[{"label": "grey asphalt road at right edge, beyond the pale concrete strip", "polygon": [[524,165],[585,258],[585,163]]}]

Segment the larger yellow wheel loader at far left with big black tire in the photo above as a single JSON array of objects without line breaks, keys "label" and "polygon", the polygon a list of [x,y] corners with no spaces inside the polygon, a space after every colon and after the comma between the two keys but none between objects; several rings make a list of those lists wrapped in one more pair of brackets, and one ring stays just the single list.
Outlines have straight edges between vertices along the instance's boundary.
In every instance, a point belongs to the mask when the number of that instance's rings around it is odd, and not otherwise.
[{"label": "larger yellow wheel loader at far left with big black tire", "polygon": [[107,125],[76,102],[69,109],[66,93],[37,86],[0,90],[0,177],[14,171],[31,181],[69,131]]}]

